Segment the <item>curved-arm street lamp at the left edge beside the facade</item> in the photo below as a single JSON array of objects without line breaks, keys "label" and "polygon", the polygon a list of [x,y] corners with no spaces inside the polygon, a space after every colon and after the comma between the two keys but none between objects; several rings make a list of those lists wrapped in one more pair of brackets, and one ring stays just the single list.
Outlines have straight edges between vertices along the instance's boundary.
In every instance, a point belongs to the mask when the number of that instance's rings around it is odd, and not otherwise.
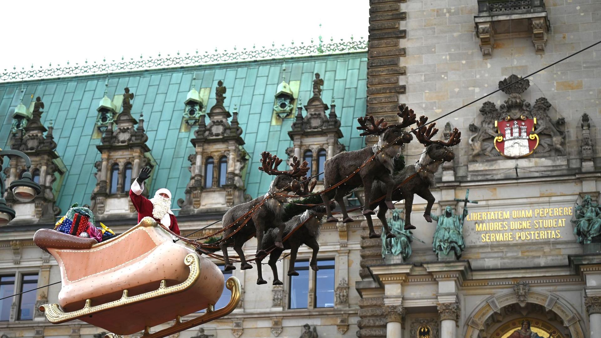
[{"label": "curved-arm street lamp at the left edge beside the facade", "polygon": [[[19,156],[25,160],[25,172],[21,175],[21,179],[14,180],[10,183],[9,189],[13,191],[14,198],[22,202],[28,202],[40,194],[41,188],[38,183],[35,183],[29,173],[31,168],[31,160],[19,150],[0,150],[0,167],[2,166],[2,157],[4,156]],[[8,224],[15,217],[13,209],[6,205],[4,199],[4,180],[0,178],[0,226]]]}]

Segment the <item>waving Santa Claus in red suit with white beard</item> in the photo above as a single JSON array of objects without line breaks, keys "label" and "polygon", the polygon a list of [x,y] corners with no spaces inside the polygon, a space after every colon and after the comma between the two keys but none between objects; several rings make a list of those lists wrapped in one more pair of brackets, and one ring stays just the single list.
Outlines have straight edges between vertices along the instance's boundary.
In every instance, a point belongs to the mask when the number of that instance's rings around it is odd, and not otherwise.
[{"label": "waving Santa Claus in red suit with white beard", "polygon": [[177,227],[177,220],[171,211],[171,191],[161,188],[154,193],[154,197],[150,200],[142,196],[144,181],[149,177],[150,168],[142,169],[138,178],[133,181],[132,188],[129,189],[129,198],[132,200],[136,211],[138,211],[138,222],[144,217],[152,217],[155,221],[179,235],[180,228]]}]

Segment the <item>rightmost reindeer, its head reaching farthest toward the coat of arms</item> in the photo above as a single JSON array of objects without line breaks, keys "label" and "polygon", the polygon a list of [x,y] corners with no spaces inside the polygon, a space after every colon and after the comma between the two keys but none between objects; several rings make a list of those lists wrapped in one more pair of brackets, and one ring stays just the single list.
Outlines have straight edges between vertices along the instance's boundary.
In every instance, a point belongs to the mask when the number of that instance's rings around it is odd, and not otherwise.
[{"label": "rightmost reindeer, its head reaching farthest toward the coat of arms", "polygon": [[[403,170],[394,175],[393,179],[394,183],[392,186],[396,187],[400,185],[401,182],[404,182],[404,180],[406,180],[408,177],[412,176],[409,180],[407,180],[407,182],[401,185],[400,188],[395,189],[394,192],[392,192],[392,197],[395,200],[405,200],[405,230],[415,229],[415,226],[412,226],[411,224],[413,194],[417,194],[419,197],[424,198],[424,200],[428,202],[426,205],[426,210],[424,211],[424,218],[426,218],[426,221],[429,223],[432,223],[430,211],[432,210],[435,199],[432,195],[432,192],[430,192],[430,188],[436,186],[434,174],[442,162],[453,161],[455,154],[451,147],[456,146],[461,142],[461,132],[457,131],[457,128],[453,129],[453,132],[451,132],[449,135],[449,140],[447,142],[432,141],[431,139],[434,135],[436,135],[438,129],[435,128],[436,123],[432,123],[426,128],[424,124],[426,124],[427,120],[427,117],[420,117],[417,128],[412,130],[419,143],[426,146],[426,150],[419,158],[419,161],[416,161],[415,164],[404,167]],[[389,185],[385,185],[382,182],[376,182],[371,188],[370,195],[377,198],[378,196],[385,194],[389,188]],[[388,229],[388,223],[386,223],[386,211],[389,209],[388,204],[383,203],[382,201],[370,203],[370,207],[376,206],[379,206],[377,218],[382,221],[382,225],[385,227],[385,229]],[[367,225],[370,227],[370,229],[373,229],[373,223],[370,215],[367,215]]]}]

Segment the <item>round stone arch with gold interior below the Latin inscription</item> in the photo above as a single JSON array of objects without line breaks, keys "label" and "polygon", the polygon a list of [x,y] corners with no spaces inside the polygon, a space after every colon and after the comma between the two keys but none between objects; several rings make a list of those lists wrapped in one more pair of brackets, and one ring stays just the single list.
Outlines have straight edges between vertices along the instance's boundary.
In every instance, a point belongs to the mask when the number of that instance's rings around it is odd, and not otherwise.
[{"label": "round stone arch with gold interior below the Latin inscription", "polygon": [[[463,337],[505,338],[520,328],[523,319],[531,318],[539,336],[584,338],[584,322],[578,311],[559,295],[530,291],[519,302],[515,292],[495,295],[482,301],[468,316]],[[534,331],[536,331],[534,330]]]}]

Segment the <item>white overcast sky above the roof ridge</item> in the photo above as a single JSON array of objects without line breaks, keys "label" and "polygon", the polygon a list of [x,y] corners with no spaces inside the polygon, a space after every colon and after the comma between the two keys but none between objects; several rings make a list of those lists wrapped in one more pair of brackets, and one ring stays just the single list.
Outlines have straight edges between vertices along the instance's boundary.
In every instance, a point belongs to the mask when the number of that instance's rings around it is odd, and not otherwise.
[{"label": "white overcast sky above the roof ridge", "polygon": [[[367,0],[1,1],[0,72],[25,67],[367,39]],[[322,27],[319,27],[319,24]]]}]

